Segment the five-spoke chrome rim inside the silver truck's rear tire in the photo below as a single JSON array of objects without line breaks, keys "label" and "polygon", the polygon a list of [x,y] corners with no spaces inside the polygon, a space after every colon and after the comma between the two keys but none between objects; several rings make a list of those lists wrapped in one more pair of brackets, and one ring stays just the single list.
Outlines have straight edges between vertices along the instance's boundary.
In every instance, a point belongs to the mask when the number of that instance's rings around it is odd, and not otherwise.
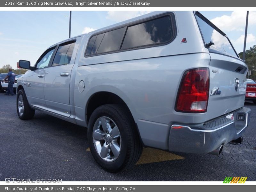
[{"label": "five-spoke chrome rim inside the silver truck's rear tire", "polygon": [[92,130],[93,144],[100,157],[108,162],[115,161],[121,150],[121,136],[115,122],[102,116],[95,121]]}]

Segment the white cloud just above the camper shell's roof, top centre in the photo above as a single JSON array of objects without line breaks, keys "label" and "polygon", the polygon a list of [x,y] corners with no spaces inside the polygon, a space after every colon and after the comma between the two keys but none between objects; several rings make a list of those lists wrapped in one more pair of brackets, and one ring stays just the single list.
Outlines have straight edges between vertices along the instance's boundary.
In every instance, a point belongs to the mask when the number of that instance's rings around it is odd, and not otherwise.
[{"label": "white cloud just above the camper shell's roof, top centre", "polygon": [[113,21],[124,21],[140,15],[145,15],[151,11],[108,11],[107,19]]}]

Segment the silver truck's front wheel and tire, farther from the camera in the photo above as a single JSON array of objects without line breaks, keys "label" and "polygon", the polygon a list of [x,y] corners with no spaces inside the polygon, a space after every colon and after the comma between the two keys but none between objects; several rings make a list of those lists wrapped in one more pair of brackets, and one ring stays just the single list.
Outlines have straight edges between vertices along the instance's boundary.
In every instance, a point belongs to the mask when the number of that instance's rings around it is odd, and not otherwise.
[{"label": "silver truck's front wheel and tire, farther from the camera", "polygon": [[27,120],[32,119],[35,115],[35,109],[29,106],[25,91],[21,89],[17,94],[17,113],[20,119]]}]

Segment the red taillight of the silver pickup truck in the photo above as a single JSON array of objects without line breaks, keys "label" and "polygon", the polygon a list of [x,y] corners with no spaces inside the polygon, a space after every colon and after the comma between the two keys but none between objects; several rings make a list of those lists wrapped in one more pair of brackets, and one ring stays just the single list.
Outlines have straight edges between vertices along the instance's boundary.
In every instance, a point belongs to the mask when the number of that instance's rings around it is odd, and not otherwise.
[{"label": "red taillight of the silver pickup truck", "polygon": [[182,77],[175,110],[204,113],[209,98],[209,68],[190,69]]}]

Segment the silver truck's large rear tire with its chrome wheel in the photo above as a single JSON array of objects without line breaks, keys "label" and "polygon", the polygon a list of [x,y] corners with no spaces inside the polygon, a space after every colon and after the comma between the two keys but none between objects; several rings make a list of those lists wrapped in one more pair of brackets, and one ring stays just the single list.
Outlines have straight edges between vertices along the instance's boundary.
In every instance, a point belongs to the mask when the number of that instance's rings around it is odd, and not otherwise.
[{"label": "silver truck's large rear tire with its chrome wheel", "polygon": [[134,165],[143,148],[132,116],[117,104],[102,105],[93,111],[88,142],[92,156],[108,172]]}]

